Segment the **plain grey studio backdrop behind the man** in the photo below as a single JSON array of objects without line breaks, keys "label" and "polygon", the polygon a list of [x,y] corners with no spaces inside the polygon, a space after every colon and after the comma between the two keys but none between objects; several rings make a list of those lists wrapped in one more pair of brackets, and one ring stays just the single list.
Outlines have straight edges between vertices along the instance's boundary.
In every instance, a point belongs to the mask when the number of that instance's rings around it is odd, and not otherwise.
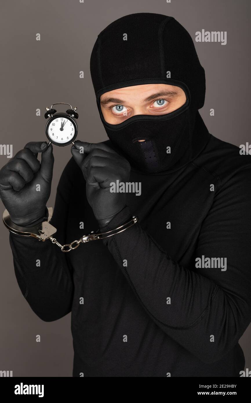
[{"label": "plain grey studio backdrop behind the man", "polygon": [[[226,46],[195,42],[207,84],[201,115],[216,137],[238,146],[250,143],[250,8],[250,0],[171,0],[170,4],[166,0],[85,0],[83,4],[79,0],[2,0],[0,143],[13,144],[15,155],[28,141],[47,140],[44,108],[54,102],[78,107],[79,139],[107,139],[97,111],[89,59],[98,33],[134,12],[171,15],[194,42],[196,31],[227,31]],[[41,34],[40,41],[36,41],[36,33]],[[83,79],[79,71],[84,71]],[[37,108],[41,116],[36,116]],[[214,117],[210,108],[215,110]],[[54,146],[48,206],[54,206],[60,174],[71,158],[70,148]],[[8,161],[0,156],[0,167]],[[46,323],[33,313],[17,285],[3,224],[0,235],[0,370],[12,370],[13,376],[72,376],[71,315]],[[35,341],[36,334],[41,336],[40,343]],[[246,368],[251,369],[250,335],[251,326],[240,344]]]}]

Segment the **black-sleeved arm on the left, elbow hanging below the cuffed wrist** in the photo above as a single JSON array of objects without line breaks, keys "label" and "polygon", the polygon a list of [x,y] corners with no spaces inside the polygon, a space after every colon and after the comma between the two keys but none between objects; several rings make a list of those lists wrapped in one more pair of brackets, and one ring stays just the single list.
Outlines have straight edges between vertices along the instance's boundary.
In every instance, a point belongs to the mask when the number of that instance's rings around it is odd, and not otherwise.
[{"label": "black-sleeved arm on the left, elbow hanging below the cuffed wrist", "polygon": [[[57,229],[55,237],[60,243],[65,243],[72,187],[70,169],[71,161],[62,172],[50,221]],[[42,242],[13,233],[10,247],[17,282],[35,314],[42,320],[53,321],[71,312],[74,286],[67,253],[49,240]]]}]

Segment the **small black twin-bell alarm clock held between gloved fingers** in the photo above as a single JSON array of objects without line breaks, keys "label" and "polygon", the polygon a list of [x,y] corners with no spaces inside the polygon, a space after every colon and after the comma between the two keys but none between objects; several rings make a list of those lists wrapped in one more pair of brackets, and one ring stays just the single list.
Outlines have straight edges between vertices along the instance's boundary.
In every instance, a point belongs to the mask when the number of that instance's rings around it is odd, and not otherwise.
[{"label": "small black twin-bell alarm clock held between gloved fingers", "polygon": [[[69,105],[71,109],[67,109],[66,112],[58,112],[56,113],[56,109],[53,109],[54,105]],[[73,143],[77,137],[78,127],[75,119],[79,117],[76,112],[77,108],[72,108],[71,104],[67,104],[65,102],[57,102],[56,104],[52,104],[50,108],[46,107],[46,113],[44,117],[46,119],[50,118],[46,123],[46,136],[49,139],[49,144],[51,143],[55,145],[68,145]]]}]

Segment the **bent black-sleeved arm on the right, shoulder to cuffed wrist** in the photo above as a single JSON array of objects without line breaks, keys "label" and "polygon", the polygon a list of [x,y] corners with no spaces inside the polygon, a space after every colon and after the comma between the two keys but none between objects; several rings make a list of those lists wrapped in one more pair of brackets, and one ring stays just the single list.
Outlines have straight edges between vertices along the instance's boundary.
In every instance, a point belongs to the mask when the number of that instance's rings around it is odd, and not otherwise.
[{"label": "bent black-sleeved arm on the right, shoulder to cuffed wrist", "polygon": [[[124,208],[102,231],[127,222],[131,213]],[[218,361],[238,343],[251,321],[250,168],[220,189],[201,226],[195,258],[227,258],[225,271],[195,262],[180,266],[168,245],[167,254],[140,224],[104,243],[149,316],[201,361]]]}]

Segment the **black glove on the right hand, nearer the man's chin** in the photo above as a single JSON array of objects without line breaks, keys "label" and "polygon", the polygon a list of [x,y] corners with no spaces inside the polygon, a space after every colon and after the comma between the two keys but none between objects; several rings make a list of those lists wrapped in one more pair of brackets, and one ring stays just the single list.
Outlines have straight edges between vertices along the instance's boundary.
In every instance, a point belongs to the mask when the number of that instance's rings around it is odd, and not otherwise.
[{"label": "black glove on the right hand, nearer the man's chin", "polygon": [[[79,151],[84,147],[84,154]],[[100,228],[106,226],[126,206],[125,193],[111,193],[110,183],[127,182],[129,162],[103,143],[75,141],[71,147],[73,158],[81,168],[86,181],[87,200]]]}]

